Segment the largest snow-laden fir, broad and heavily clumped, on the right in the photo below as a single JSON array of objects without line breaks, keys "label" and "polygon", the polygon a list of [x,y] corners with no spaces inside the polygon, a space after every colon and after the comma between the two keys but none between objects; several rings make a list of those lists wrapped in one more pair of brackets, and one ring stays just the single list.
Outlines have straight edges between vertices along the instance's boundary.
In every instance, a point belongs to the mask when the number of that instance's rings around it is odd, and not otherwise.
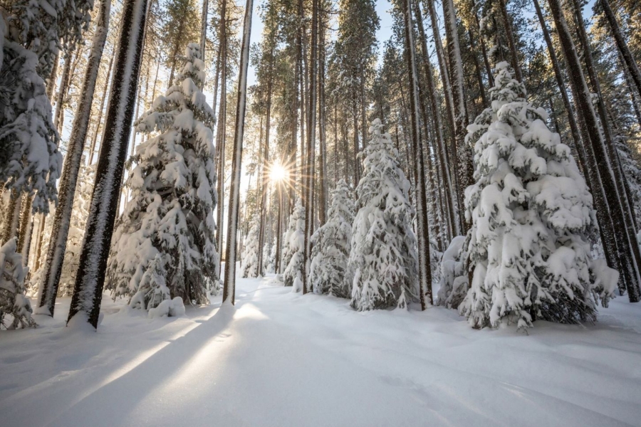
[{"label": "largest snow-laden fir, broad and heavily clumped, on the right", "polygon": [[618,273],[593,260],[592,196],[570,149],[548,130],[547,114],[526,100],[508,63],[496,65],[491,107],[469,125],[476,183],[465,191],[469,264],[459,307],[473,327],[533,320],[594,320]]}]

